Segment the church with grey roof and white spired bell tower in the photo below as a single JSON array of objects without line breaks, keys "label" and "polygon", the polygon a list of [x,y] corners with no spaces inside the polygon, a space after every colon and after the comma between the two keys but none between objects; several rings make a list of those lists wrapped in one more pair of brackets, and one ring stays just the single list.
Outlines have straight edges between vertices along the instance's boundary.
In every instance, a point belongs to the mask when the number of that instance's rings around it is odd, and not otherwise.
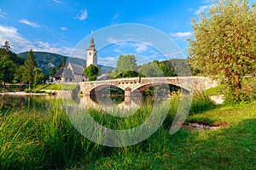
[{"label": "church with grey roof and white spired bell tower", "polygon": [[[86,49],[85,67],[89,65],[97,65],[97,50],[95,48],[93,34],[90,38],[89,48]],[[61,67],[55,75],[49,77],[49,82],[61,83],[61,82],[86,82],[89,80],[84,75],[84,67],[82,65],[76,65],[68,63],[66,67]]]}]

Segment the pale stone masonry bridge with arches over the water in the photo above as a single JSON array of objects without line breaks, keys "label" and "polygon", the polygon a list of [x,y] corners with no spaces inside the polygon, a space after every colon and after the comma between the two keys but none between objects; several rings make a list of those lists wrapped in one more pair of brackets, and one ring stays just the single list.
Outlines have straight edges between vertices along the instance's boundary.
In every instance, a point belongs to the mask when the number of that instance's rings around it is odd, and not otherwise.
[{"label": "pale stone masonry bridge with arches over the water", "polygon": [[162,84],[171,84],[193,93],[194,90],[201,91],[207,88],[214,88],[218,85],[218,82],[212,81],[209,77],[132,77],[93,82],[79,82],[80,90],[84,95],[90,95],[90,92],[95,89],[97,92],[100,92],[104,88],[114,86],[123,89],[125,91],[125,96],[130,96],[131,93],[136,90],[143,92],[146,88]]}]

